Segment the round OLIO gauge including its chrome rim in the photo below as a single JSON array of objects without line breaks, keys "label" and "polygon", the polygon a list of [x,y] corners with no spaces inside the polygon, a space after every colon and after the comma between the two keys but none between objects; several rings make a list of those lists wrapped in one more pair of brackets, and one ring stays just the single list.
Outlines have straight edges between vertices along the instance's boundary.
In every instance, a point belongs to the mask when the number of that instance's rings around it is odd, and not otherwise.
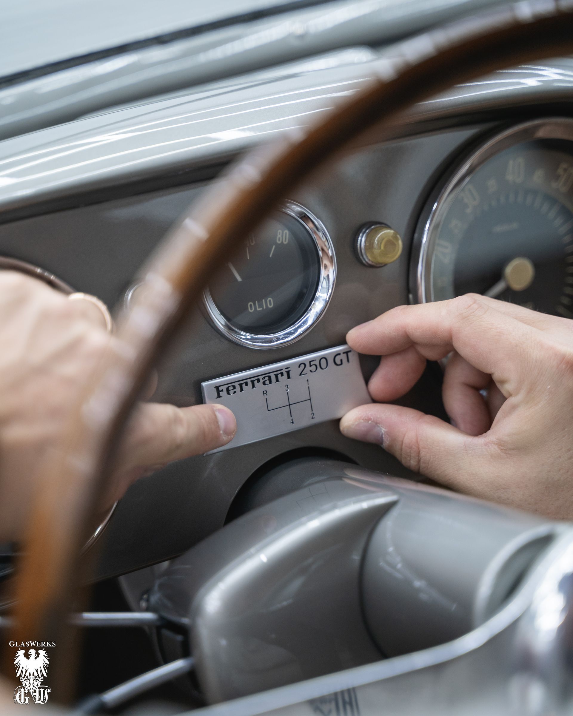
[{"label": "round OLIO gauge including its chrome rim", "polygon": [[221,267],[205,291],[206,309],[234,342],[278,347],[302,337],[322,316],[335,274],[326,229],[289,202]]}]

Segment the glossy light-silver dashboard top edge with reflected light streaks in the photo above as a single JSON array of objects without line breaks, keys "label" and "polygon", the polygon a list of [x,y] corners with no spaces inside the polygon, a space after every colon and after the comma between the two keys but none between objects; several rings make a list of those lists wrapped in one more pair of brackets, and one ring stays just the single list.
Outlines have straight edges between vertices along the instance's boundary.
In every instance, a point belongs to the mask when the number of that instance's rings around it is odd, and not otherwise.
[{"label": "glossy light-silver dashboard top edge with reflected light streaks", "polygon": [[[111,185],[130,185],[127,194],[141,193],[135,184],[148,181],[147,190],[153,190],[158,188],[152,185],[158,175],[162,181],[171,177],[170,185],[198,180],[193,170],[208,173],[210,165],[220,167],[261,141],[306,125],[356,92],[380,62],[385,60],[321,69],[302,77],[275,77],[255,87],[243,82],[224,95],[206,93],[202,87],[186,97],[110,110],[4,140],[1,221],[38,203],[57,202],[64,208],[65,198]],[[420,103],[408,114],[400,138],[432,131],[436,122],[443,126],[455,119],[459,125],[464,117],[466,122],[480,116],[483,120],[487,112],[512,107],[534,105],[539,113],[543,105],[571,100],[572,89],[573,59],[503,70]],[[375,132],[364,143],[375,143]],[[174,181],[173,175],[181,180]],[[212,176],[211,170],[204,178]],[[47,211],[54,209],[47,206]]]}]

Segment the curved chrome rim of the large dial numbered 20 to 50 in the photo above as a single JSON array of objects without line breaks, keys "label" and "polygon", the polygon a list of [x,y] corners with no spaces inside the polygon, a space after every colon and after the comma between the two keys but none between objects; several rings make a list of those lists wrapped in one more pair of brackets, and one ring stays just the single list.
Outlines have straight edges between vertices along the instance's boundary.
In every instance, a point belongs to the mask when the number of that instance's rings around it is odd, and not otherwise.
[{"label": "curved chrome rim of the large dial numbered 20 to 50", "polygon": [[539,139],[555,139],[573,142],[573,120],[567,117],[546,117],[522,122],[497,132],[489,140],[473,150],[453,171],[445,185],[430,197],[418,222],[414,235],[412,255],[412,289],[410,297],[415,303],[434,300],[432,281],[432,258],[443,220],[458,190],[489,159],[510,147]]}]

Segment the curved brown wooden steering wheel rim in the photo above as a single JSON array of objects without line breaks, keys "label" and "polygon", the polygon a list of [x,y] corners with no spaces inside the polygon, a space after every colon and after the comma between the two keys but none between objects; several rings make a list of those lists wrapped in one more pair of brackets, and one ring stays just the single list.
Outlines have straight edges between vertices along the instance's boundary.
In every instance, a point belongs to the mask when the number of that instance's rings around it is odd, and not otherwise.
[{"label": "curved brown wooden steering wheel rim", "polygon": [[[433,29],[392,48],[380,75],[326,119],[250,153],[213,183],[143,268],[145,290],[117,321],[120,352],[107,353],[70,411],[64,454],[46,466],[14,583],[10,639],[57,641],[53,696],[72,696],[77,636],[67,621],[95,550],[82,554],[100,508],[122,428],[145,381],[221,263],[279,200],[366,130],[397,134],[415,102],[501,67],[554,57],[573,47],[573,5],[520,2]],[[379,124],[381,122],[381,124]],[[6,662],[5,673],[12,672]]]}]

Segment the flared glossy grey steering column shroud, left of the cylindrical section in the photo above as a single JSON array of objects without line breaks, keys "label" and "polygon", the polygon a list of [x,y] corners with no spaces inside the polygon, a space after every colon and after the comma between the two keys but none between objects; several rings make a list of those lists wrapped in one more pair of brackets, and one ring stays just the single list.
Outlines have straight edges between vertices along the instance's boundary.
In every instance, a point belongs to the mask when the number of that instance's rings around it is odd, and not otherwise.
[{"label": "flared glossy grey steering column shroud, left of the cylindrical section", "polygon": [[206,586],[192,613],[192,649],[208,701],[379,658],[361,624],[357,573],[372,523],[393,499],[378,493],[312,512]]}]

